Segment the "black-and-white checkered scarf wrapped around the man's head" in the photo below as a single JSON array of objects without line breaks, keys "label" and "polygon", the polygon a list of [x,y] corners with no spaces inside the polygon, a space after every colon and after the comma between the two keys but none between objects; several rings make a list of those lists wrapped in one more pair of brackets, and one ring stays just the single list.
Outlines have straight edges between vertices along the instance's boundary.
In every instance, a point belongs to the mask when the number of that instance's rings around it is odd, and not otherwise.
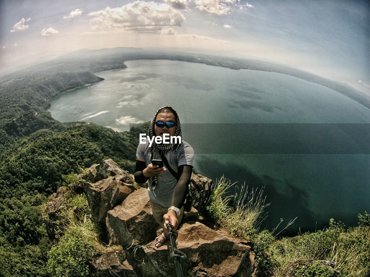
[{"label": "black-and-white checkered scarf wrapped around the man's head", "polygon": [[[153,137],[153,136],[155,136],[155,131],[154,131],[155,119],[157,118],[158,113],[161,112],[161,110],[164,110],[164,109],[170,110],[175,115],[175,122],[176,122],[176,124],[175,124],[175,128],[176,128],[176,130],[175,130],[175,136],[180,136],[181,137],[181,125],[180,125],[179,116],[178,116],[177,112],[174,110],[174,108],[168,107],[168,106],[162,107],[161,109],[157,110],[157,112],[154,114],[154,117],[152,118],[152,121],[151,121],[151,123],[149,125],[149,128],[148,128],[148,136],[150,138]],[[155,148],[158,148],[158,149],[160,149],[162,151],[167,151],[167,150],[171,149],[172,147],[174,147],[175,145],[176,145],[175,143],[169,143],[169,144],[161,143],[161,144],[157,144],[154,141],[153,144],[152,144],[152,146],[149,147],[150,154],[151,154],[151,160],[157,159],[157,154],[156,154]],[[152,187],[154,188],[155,185],[156,185],[156,182],[157,182],[157,176],[151,177],[151,181],[152,181]]]}]

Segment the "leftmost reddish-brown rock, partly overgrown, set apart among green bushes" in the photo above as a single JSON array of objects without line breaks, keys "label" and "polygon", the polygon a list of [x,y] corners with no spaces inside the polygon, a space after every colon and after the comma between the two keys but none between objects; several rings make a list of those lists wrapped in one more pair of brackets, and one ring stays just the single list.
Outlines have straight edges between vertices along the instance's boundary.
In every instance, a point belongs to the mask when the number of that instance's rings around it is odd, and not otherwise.
[{"label": "leftmost reddish-brown rock, partly overgrown, set apart among green bushes", "polygon": [[60,228],[57,224],[57,221],[60,219],[60,208],[67,204],[68,194],[70,194],[70,192],[68,191],[67,187],[60,187],[57,189],[56,193],[53,193],[48,197],[46,211],[48,220],[44,220],[44,223],[46,224],[48,236],[51,239],[55,238],[55,232],[60,233]]}]

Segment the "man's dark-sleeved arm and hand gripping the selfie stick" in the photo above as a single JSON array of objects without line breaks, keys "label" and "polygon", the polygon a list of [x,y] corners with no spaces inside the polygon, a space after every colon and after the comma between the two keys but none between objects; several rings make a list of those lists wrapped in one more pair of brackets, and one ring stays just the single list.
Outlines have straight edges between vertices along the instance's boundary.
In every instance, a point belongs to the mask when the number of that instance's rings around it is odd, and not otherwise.
[{"label": "man's dark-sleeved arm and hand gripping the selfie stick", "polygon": [[[175,206],[176,208],[181,208],[184,205],[184,201],[186,198],[186,189],[188,182],[191,177],[192,167],[190,165],[180,165],[178,168],[178,174],[180,175],[179,181],[177,182],[174,196],[172,198],[171,206]],[[163,219],[165,220],[164,228],[166,229],[166,224],[171,223],[172,226],[178,225],[178,220],[176,216],[176,212],[174,210],[169,210],[164,216]]]}]

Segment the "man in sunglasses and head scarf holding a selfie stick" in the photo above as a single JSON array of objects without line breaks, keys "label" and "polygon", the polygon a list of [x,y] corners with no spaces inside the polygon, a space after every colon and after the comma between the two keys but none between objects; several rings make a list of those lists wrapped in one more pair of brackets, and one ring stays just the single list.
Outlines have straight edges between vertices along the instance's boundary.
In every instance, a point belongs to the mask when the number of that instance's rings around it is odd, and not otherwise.
[{"label": "man in sunglasses and head scarf holding a selfie stick", "polygon": [[[148,128],[148,136],[180,136],[179,116],[172,107],[163,107],[154,115]],[[168,135],[167,139],[168,139]],[[162,157],[161,157],[162,154]],[[158,248],[168,238],[167,223],[176,228],[181,222],[188,183],[194,167],[194,150],[184,140],[170,144],[149,141],[139,144],[136,153],[135,181],[144,184],[148,181],[148,194],[155,220],[163,228],[163,233],[155,238]],[[163,158],[165,157],[165,159]],[[171,169],[152,165],[151,160],[166,160]],[[164,162],[164,165],[166,162]]]}]

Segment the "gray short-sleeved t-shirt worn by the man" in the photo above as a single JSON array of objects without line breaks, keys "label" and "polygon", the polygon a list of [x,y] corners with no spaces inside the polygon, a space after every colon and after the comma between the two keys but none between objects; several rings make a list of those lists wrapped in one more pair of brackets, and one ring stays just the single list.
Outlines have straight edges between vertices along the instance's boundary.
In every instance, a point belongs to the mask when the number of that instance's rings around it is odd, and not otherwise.
[{"label": "gray short-sleeved t-shirt worn by the man", "polygon": [[[151,164],[151,155],[149,150],[149,141],[145,140],[145,144],[139,144],[136,151],[136,157],[145,160],[145,164],[148,166]],[[157,159],[161,160],[161,155],[156,148]],[[165,157],[171,166],[171,168],[177,172],[180,165],[191,165],[194,167],[194,150],[185,140],[181,140],[179,146],[174,146],[165,152]],[[164,167],[166,165],[164,164]],[[165,172],[157,175],[157,185],[152,190],[152,182],[148,180],[148,194],[149,198],[164,207],[171,206],[172,197],[174,194],[175,187],[177,185],[176,178],[166,170]]]}]

